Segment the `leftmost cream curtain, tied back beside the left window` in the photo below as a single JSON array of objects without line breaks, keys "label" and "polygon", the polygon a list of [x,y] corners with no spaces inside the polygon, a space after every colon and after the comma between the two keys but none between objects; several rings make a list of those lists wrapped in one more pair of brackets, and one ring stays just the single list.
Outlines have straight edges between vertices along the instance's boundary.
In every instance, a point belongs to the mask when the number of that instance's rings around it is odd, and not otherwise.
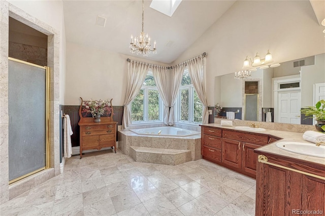
[{"label": "leftmost cream curtain, tied back beside the left window", "polygon": [[142,84],[148,74],[149,64],[143,62],[127,63],[127,88],[124,100],[124,112],[122,120],[122,129],[131,125],[131,102],[138,95]]}]

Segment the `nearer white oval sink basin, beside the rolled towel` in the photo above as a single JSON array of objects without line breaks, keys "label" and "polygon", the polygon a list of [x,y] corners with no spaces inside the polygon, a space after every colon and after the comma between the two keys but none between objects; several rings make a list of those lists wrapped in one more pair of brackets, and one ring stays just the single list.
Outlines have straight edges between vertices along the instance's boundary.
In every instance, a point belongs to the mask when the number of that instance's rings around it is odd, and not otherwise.
[{"label": "nearer white oval sink basin, beside the rolled towel", "polygon": [[325,158],[325,146],[316,146],[313,143],[278,142],[275,146],[289,152]]}]

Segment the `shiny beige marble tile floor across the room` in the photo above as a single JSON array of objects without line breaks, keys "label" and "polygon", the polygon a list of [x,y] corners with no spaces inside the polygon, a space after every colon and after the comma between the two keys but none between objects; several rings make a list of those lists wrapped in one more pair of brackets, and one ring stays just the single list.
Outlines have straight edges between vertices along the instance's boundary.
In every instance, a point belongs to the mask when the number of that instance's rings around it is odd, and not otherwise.
[{"label": "shiny beige marble tile floor across the room", "polygon": [[139,163],[105,150],[2,204],[0,215],[254,215],[255,180],[204,159]]}]

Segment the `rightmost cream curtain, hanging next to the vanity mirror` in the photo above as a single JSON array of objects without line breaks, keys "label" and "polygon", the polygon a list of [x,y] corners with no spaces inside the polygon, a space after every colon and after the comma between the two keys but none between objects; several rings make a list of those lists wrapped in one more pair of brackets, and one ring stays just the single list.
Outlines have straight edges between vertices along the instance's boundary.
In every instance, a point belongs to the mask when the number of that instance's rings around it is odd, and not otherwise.
[{"label": "rightmost cream curtain, hanging next to the vanity mirror", "polygon": [[209,111],[206,94],[206,57],[199,56],[187,61],[188,74],[198,97],[203,104],[202,124],[209,123]]}]

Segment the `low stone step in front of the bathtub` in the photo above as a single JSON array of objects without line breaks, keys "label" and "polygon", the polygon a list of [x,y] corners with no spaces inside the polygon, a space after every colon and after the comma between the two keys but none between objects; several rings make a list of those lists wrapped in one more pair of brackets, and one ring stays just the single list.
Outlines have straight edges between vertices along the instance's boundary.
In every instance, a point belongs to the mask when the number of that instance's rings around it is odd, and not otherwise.
[{"label": "low stone step in front of the bathtub", "polygon": [[137,162],[178,165],[191,160],[191,151],[187,150],[130,146],[129,151]]}]

